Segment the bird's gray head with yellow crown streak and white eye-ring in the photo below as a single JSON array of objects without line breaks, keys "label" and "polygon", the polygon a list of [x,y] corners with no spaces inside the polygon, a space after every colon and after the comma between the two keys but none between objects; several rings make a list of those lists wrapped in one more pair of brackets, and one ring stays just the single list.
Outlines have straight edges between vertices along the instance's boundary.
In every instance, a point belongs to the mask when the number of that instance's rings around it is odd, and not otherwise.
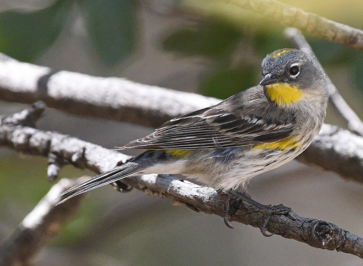
[{"label": "bird's gray head with yellow crown streak and white eye-ring", "polygon": [[313,57],[297,49],[280,49],[262,61],[260,85],[285,83],[302,90],[325,87],[322,70]]}]

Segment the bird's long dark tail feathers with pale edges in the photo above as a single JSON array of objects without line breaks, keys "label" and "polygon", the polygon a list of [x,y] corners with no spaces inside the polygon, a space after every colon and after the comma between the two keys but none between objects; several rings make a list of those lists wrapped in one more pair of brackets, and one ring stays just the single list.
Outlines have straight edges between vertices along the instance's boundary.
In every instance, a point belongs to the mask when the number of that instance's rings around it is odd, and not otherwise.
[{"label": "bird's long dark tail feathers with pale edges", "polygon": [[79,194],[88,192],[95,188],[99,188],[103,185],[113,183],[117,180],[121,180],[122,178],[129,177],[132,174],[135,174],[145,168],[145,166],[135,164],[134,162],[127,162],[123,165],[117,166],[110,171],[99,174],[98,176],[92,177],[89,180],[86,180],[85,182],[82,182],[81,184],[78,184],[73,188],[68,189],[66,192],[62,193],[58,197],[63,198],[63,200],[58,202],[57,205]]}]

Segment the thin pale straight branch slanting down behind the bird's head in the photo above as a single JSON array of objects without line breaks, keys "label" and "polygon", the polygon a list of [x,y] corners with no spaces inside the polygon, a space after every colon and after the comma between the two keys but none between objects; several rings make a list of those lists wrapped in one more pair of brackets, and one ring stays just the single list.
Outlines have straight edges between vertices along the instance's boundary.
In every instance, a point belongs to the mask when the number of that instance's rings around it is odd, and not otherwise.
[{"label": "thin pale straight branch slanting down behind the bird's head", "polygon": [[[315,56],[313,49],[311,49],[310,45],[305,40],[301,31],[295,28],[287,28],[285,30],[285,35],[293,45],[304,51],[305,53],[314,56],[315,61],[323,70],[323,67],[319,63],[317,57]],[[324,72],[324,70],[323,70]],[[325,72],[324,72],[325,73]],[[363,122],[359,119],[359,117],[354,113],[354,111],[350,108],[350,106],[344,101],[343,97],[339,94],[337,88],[334,86],[333,82],[330,80],[329,76],[325,73],[325,79],[329,87],[329,99],[330,103],[334,106],[334,108],[338,111],[340,116],[346,121],[348,128],[352,130],[352,132],[363,136]]]}]

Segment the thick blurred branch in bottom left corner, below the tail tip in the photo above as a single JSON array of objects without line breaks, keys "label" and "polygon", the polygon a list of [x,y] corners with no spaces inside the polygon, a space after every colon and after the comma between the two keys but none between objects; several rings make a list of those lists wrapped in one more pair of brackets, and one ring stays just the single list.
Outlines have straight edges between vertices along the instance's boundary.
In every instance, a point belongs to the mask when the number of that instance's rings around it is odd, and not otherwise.
[{"label": "thick blurred branch in bottom left corner, below the tail tip", "polygon": [[0,246],[0,265],[29,265],[29,262],[44,247],[77,209],[81,197],[55,206],[56,198],[72,186],[85,181],[62,179],[54,185],[38,205],[24,218],[14,233]]}]

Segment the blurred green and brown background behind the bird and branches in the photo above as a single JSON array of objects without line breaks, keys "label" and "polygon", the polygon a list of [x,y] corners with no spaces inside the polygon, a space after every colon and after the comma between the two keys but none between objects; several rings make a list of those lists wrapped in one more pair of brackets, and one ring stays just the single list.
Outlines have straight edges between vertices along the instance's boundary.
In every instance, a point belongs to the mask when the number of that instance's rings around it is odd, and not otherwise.
[{"label": "blurred green and brown background behind the bird and branches", "polygon": [[[196,1],[196,0],[195,0]],[[361,0],[283,1],[362,29]],[[205,16],[175,0],[0,0],[0,52],[56,70],[126,77],[175,90],[227,98],[260,81],[267,53],[290,47],[284,27],[246,11],[238,20]],[[306,36],[339,92],[363,117],[363,53]],[[0,101],[0,114],[26,105]],[[345,127],[332,108],[326,122]],[[47,109],[38,128],[106,148],[151,133],[122,122]],[[131,155],[133,151],[125,151]],[[332,162],[335,163],[335,162]],[[47,159],[0,149],[0,240],[6,239],[52,184]],[[65,166],[60,177],[94,173]],[[264,204],[333,222],[363,235],[363,186],[314,165],[292,161],[250,182]],[[224,225],[215,215],[172,206],[132,190],[104,186],[89,193],[37,265],[361,265],[359,258],[314,249],[251,226]]]}]

